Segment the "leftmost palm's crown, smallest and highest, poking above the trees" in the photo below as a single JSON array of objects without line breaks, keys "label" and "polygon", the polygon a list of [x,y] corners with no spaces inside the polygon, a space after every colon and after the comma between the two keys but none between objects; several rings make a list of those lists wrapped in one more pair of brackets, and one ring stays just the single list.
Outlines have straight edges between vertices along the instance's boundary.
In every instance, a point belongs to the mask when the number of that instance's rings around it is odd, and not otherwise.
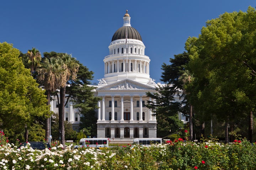
[{"label": "leftmost palm's crown, smallest and highest, poking above the trees", "polygon": [[26,53],[26,56],[27,56],[27,63],[30,68],[30,72],[32,76],[34,70],[36,70],[36,68],[40,65],[42,56],[41,56],[41,53],[34,47],[32,48],[32,50],[28,50],[28,52]]}]

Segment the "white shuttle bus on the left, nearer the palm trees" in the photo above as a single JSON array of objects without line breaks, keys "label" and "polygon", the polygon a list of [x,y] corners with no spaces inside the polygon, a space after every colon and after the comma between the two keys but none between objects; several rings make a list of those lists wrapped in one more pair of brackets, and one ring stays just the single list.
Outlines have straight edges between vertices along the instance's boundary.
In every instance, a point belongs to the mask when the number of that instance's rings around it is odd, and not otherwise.
[{"label": "white shuttle bus on the left, nearer the palm trees", "polygon": [[78,147],[108,148],[109,138],[81,138]]}]

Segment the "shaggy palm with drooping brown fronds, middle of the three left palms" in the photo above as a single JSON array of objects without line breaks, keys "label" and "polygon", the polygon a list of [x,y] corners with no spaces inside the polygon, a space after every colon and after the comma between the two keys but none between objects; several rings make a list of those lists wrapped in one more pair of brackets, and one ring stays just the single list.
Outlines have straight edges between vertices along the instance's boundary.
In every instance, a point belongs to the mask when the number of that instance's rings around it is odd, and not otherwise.
[{"label": "shaggy palm with drooping brown fronds, middle of the three left palms", "polygon": [[[50,94],[57,89],[60,79],[59,76],[63,71],[59,63],[58,58],[45,58],[41,64],[41,67],[37,69],[37,79],[42,82],[44,89],[46,90],[48,100],[47,105],[50,105]],[[49,118],[46,119],[46,140],[48,140],[50,136],[50,116],[51,115],[49,115]]]}]

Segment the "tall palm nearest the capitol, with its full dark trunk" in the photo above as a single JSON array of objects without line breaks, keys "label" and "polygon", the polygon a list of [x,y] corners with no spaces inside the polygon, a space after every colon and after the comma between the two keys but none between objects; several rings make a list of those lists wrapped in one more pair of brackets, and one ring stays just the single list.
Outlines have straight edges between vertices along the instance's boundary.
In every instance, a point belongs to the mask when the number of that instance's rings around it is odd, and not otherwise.
[{"label": "tall palm nearest the capitol, with its full dark trunk", "polygon": [[65,129],[64,129],[64,109],[65,109],[65,95],[66,95],[66,84],[71,80],[76,79],[78,73],[79,64],[67,53],[60,57],[63,72],[59,76],[59,88],[60,88],[60,104],[59,104],[59,136],[60,143],[65,148]]}]

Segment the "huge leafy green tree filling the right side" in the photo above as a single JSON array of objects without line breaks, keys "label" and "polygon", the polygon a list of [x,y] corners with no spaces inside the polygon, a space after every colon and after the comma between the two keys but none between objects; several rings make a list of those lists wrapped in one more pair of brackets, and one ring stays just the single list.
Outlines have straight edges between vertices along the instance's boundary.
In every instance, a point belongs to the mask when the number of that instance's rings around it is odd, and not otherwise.
[{"label": "huge leafy green tree filling the right side", "polygon": [[[206,22],[198,38],[188,38],[188,70],[194,76],[196,112],[230,124],[255,108],[256,11],[225,12]],[[251,122],[251,121],[250,121]],[[249,124],[249,129],[252,125]],[[228,141],[225,128],[225,138]],[[250,132],[251,133],[251,132]],[[250,136],[250,135],[249,135]]]}]

